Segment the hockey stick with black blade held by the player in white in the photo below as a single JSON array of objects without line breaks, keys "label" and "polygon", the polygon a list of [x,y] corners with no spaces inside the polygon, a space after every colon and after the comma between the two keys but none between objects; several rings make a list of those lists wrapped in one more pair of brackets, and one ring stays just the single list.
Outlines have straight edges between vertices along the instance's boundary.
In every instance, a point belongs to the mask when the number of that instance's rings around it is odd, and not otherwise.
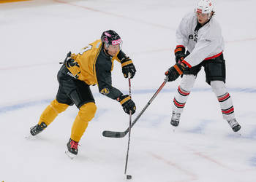
[{"label": "hockey stick with black blade held by the player in white", "polygon": [[[168,80],[168,76],[165,77],[165,82],[163,82],[161,84],[161,86],[159,87],[159,89],[157,90],[157,92],[154,93],[154,95],[152,96],[152,98],[148,101],[148,103],[146,104],[146,106],[144,106],[144,108],[142,109],[142,111],[140,111],[140,113],[138,114],[138,116],[135,118],[135,120],[132,122],[131,124],[131,128],[133,127],[133,125],[138,121],[138,119],[140,118],[140,116],[144,113],[144,111],[146,111],[146,108],[148,108],[148,106],[152,103],[152,101],[154,100],[154,98],[157,97],[157,95],[159,94],[159,92],[162,90],[162,88],[165,86],[166,82]],[[103,131],[102,135],[105,137],[109,137],[109,138],[123,138],[125,135],[127,135],[127,133],[129,132],[129,127],[127,128],[127,130],[125,130],[124,132],[113,132],[113,131]]]}]

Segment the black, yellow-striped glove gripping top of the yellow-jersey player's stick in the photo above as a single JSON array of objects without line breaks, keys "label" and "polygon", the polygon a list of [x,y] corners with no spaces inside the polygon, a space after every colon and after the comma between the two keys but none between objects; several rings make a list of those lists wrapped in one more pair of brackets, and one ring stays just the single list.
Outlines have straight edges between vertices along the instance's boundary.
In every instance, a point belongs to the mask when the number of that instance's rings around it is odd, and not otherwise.
[{"label": "black, yellow-striped glove gripping top of the yellow-jersey player's stick", "polygon": [[121,50],[118,53],[117,58],[121,61],[121,68],[124,74],[124,78],[128,78],[128,75],[130,73],[132,79],[133,76],[135,76],[136,72],[136,68],[132,63],[132,60],[129,57],[127,57],[127,55],[125,55],[124,52],[122,52]]}]

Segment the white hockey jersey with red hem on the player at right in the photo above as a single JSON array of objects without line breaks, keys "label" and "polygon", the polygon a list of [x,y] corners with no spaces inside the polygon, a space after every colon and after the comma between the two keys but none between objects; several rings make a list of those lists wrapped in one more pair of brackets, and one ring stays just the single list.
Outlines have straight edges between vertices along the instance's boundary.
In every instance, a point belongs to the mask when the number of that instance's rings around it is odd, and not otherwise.
[{"label": "white hockey jersey with red hem on the player at right", "polygon": [[183,17],[176,31],[177,45],[183,45],[190,54],[182,61],[189,68],[203,60],[216,58],[224,50],[224,40],[219,23],[214,17],[198,31],[197,16],[189,13]]}]

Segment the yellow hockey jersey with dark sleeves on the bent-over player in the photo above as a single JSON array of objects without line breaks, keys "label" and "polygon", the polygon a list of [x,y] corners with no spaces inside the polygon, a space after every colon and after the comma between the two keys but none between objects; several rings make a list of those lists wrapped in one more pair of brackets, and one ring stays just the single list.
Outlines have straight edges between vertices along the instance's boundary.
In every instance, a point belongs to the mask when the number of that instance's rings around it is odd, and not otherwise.
[{"label": "yellow hockey jersey with dark sleeves on the bent-over player", "polygon": [[99,92],[109,98],[116,99],[122,93],[112,87],[111,71],[113,70],[114,60],[121,62],[117,55],[112,58],[106,54],[102,47],[102,41],[97,40],[84,47],[83,51],[77,55],[71,55],[71,59],[65,62],[68,69],[66,74],[86,82],[88,85],[97,84]]}]

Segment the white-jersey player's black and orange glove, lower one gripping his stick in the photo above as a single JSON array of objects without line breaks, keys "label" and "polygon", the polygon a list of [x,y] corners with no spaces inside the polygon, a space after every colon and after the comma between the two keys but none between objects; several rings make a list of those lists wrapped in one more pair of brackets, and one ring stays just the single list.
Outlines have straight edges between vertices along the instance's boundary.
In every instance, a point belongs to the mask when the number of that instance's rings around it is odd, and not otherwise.
[{"label": "white-jersey player's black and orange glove, lower one gripping his stick", "polygon": [[178,76],[183,74],[186,66],[183,63],[176,63],[174,66],[170,67],[165,71],[165,75],[168,76],[168,82],[172,82],[178,79]]}]

